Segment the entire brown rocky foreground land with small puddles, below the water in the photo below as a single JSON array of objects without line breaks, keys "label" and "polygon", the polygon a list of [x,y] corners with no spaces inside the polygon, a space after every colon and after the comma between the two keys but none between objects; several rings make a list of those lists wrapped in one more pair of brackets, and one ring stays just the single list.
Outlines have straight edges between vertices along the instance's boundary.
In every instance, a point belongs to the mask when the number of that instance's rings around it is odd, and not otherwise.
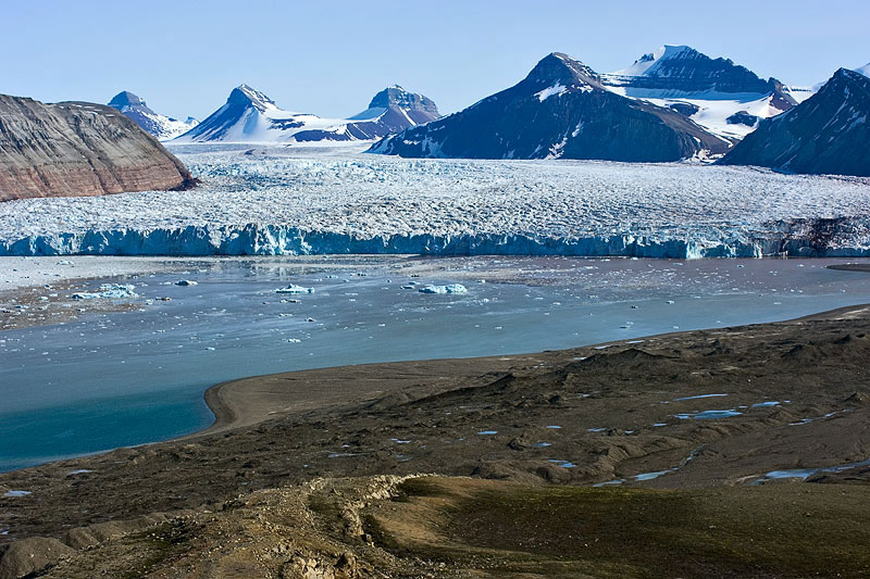
[{"label": "entire brown rocky foreground land with small puddles, below the water", "polygon": [[203,435],[0,475],[0,577],[865,575],[868,330],[229,382]]}]

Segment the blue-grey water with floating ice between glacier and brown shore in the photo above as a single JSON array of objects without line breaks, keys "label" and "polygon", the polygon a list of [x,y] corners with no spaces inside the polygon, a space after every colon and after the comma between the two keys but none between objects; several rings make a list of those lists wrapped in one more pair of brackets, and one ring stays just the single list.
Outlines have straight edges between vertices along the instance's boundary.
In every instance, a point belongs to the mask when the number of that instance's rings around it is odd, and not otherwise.
[{"label": "blue-grey water with floating ice between glacier and brown shore", "polygon": [[[204,428],[203,391],[245,376],[535,352],[870,302],[870,275],[828,260],[298,263],[94,280],[85,290],[134,285],[141,310],[0,332],[0,470]],[[313,292],[275,291],[289,284]],[[450,284],[468,292],[418,291]]]}]

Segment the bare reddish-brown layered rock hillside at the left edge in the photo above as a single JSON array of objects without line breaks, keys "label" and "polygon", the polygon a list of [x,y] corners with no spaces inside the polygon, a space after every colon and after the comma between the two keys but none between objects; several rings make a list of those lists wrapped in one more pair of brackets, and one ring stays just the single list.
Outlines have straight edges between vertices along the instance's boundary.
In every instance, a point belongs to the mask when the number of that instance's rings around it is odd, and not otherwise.
[{"label": "bare reddish-brown layered rock hillside at the left edge", "polygon": [[194,184],[181,161],[115,109],[0,95],[0,201]]}]

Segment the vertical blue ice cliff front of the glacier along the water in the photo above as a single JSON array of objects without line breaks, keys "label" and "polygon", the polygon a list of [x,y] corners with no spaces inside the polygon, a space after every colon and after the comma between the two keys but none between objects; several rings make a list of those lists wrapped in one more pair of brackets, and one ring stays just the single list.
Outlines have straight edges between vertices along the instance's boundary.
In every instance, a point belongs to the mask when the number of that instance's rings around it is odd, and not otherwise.
[{"label": "vertical blue ice cliff front of the glacier along the water", "polygon": [[529,234],[376,235],[304,230],[279,225],[110,229],[0,241],[0,255],[574,255],[625,257],[868,256],[870,219],[800,219],[768,231],[721,238],[614,234],[545,237]]}]

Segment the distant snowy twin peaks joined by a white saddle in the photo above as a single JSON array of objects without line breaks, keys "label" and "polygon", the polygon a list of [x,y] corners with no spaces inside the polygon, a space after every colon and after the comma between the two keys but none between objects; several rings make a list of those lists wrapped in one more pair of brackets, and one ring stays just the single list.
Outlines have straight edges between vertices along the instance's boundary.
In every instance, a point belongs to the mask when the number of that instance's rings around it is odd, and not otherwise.
[{"label": "distant snowy twin peaks joined by a white saddle", "polygon": [[233,89],[226,104],[175,141],[374,140],[438,117],[432,100],[398,86],[375,95],[365,111],[350,118],[322,118],[284,111],[264,93],[241,85]]}]

